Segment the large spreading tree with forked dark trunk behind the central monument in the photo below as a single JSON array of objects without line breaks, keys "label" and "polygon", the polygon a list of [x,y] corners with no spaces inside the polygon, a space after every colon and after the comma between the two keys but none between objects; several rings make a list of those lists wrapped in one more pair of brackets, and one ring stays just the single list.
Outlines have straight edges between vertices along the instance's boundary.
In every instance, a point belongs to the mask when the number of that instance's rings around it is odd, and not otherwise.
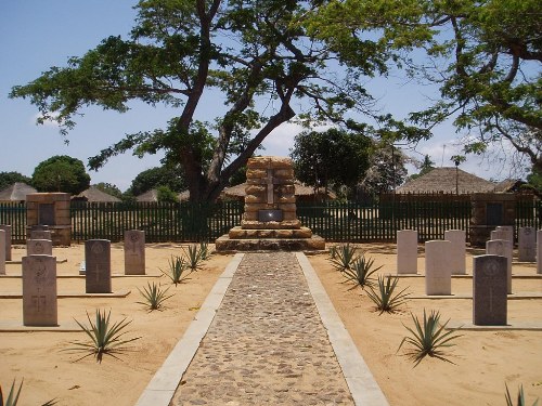
[{"label": "large spreading tree with forked dark trunk behind the central monument", "polygon": [[[367,35],[356,57],[339,66],[330,47],[300,24],[321,3],[142,0],[130,38],[109,37],[67,67],[14,87],[11,96],[29,97],[39,121],[55,120],[63,133],[88,105],[125,112],[141,100],[178,107],[165,129],[129,134],[89,165],[98,169],[129,149],[164,150],[166,162],[182,165],[191,199],[212,200],[261,142],[296,115],[327,121],[346,110],[369,113],[372,100],[361,79],[384,74],[390,55]],[[221,95],[222,107],[202,102],[211,90],[209,100]],[[198,121],[209,110],[224,113]]]}]

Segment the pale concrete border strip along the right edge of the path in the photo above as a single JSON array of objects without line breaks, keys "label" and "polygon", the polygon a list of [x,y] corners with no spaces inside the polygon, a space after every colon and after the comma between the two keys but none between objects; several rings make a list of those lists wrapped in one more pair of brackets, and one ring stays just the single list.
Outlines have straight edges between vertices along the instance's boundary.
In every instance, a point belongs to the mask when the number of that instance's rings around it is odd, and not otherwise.
[{"label": "pale concrete border strip along the right edge of the path", "polygon": [[358,406],[388,406],[388,401],[358,351],[350,333],[338,316],[320,278],[302,252],[296,252],[309,290],[314,299],[322,323],[327,330],[337,361],[343,369],[353,402]]}]

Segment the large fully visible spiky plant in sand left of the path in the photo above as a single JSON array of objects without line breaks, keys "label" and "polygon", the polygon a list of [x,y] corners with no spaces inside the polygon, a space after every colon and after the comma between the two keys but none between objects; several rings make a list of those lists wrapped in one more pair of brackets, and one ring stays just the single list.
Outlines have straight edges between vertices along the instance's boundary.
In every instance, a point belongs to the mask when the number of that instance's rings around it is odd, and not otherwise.
[{"label": "large fully visible spiky plant in sand left of the path", "polygon": [[118,357],[115,354],[125,352],[126,344],[139,340],[141,338],[141,337],[134,337],[130,339],[124,339],[124,336],[128,332],[125,331],[125,329],[131,323],[131,320],[127,322],[125,317],[120,322],[112,324],[109,322],[111,310],[109,313],[107,314],[105,314],[105,310],[103,312],[96,310],[94,323],[92,323],[92,320],[90,319],[90,315],[88,312],[87,312],[87,318],[89,320],[89,326],[85,326],[78,320],[75,322],[90,338],[90,342],[72,341],[70,344],[74,344],[75,346],[65,350],[69,352],[88,353],[87,355],[83,355],[76,361],[80,361],[90,355],[94,355],[98,363],[102,363],[103,355],[111,355],[114,358],[118,359]]}]

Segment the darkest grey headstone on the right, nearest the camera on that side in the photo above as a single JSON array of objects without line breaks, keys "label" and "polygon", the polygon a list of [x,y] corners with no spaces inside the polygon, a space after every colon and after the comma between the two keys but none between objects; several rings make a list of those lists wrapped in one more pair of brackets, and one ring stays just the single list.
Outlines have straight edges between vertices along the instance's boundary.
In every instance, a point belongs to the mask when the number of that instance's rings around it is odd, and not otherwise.
[{"label": "darkest grey headstone on the right, nearest the camera on that side", "polygon": [[506,258],[478,256],[473,259],[473,324],[505,326],[507,317]]}]

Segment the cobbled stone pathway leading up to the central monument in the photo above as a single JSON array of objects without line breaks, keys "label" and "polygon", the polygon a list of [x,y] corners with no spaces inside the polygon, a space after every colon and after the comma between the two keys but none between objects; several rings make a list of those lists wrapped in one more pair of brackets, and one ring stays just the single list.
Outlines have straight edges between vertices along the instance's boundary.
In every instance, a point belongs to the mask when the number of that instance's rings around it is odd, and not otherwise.
[{"label": "cobbled stone pathway leading up to the central monument", "polygon": [[293,253],[246,253],[171,405],[353,405]]}]

